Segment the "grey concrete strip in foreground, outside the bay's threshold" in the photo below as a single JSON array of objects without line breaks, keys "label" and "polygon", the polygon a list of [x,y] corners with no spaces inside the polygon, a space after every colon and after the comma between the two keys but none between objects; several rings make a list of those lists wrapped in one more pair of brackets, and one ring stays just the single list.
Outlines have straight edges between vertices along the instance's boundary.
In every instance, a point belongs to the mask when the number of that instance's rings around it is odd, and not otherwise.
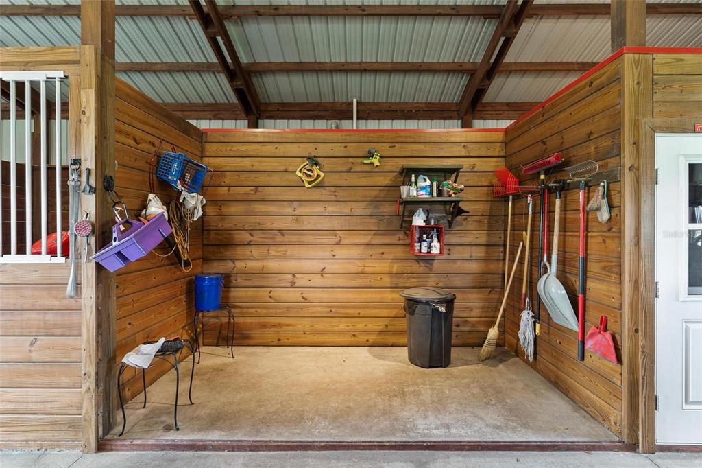
[{"label": "grey concrete strip in foreground, outside the bay's threshold", "polygon": [[702,454],[621,452],[3,452],[2,468],[698,468]]}]

